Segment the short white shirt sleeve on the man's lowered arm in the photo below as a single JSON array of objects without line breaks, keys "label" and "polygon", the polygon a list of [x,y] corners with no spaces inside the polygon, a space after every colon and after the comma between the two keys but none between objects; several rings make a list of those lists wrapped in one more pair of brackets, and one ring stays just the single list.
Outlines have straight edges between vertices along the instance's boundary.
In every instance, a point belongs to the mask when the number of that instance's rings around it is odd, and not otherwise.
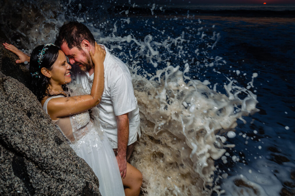
[{"label": "short white shirt sleeve on the man's lowered arm", "polygon": [[116,116],[136,108],[132,79],[129,73],[121,73],[110,86],[111,100]]}]

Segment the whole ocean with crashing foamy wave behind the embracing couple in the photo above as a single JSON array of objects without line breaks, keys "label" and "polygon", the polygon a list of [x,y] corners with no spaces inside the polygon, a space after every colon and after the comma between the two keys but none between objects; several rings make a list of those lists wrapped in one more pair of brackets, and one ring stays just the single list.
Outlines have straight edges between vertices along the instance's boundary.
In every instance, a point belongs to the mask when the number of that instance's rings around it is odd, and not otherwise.
[{"label": "whole ocean with crashing foamy wave behind the embracing couple", "polygon": [[5,0],[0,9],[2,33],[24,52],[74,20],[130,68],[141,195],[295,195],[295,4]]}]

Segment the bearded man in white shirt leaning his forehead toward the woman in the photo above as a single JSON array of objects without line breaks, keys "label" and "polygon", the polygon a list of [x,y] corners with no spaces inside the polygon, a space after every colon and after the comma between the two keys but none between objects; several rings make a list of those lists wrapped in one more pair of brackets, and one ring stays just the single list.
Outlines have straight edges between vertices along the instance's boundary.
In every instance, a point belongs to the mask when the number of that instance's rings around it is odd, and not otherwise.
[{"label": "bearded man in white shirt leaning his forehead toward the woman", "polygon": [[[73,80],[90,93],[94,78],[94,64],[89,50],[94,51],[95,40],[90,30],[78,22],[60,27],[55,45],[69,58]],[[103,46],[104,47],[104,46]],[[127,162],[140,137],[140,116],[127,66],[106,50],[104,59],[104,92],[99,108],[99,121],[117,158],[121,177],[126,176]]]}]

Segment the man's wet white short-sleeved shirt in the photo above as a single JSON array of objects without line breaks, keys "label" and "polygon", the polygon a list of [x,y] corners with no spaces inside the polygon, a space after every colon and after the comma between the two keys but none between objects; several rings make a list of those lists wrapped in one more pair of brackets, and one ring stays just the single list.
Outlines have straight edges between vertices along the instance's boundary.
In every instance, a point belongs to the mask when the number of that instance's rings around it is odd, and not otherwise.
[{"label": "man's wet white short-sleeved shirt", "polygon": [[[104,92],[99,108],[99,121],[111,141],[112,148],[118,148],[118,131],[116,116],[129,112],[129,140],[128,145],[140,136],[140,116],[137,99],[134,96],[132,79],[127,66],[117,57],[106,50],[104,58]],[[82,84],[86,93],[90,94],[94,74],[89,76],[88,71],[82,71],[72,65],[73,80]]]}]

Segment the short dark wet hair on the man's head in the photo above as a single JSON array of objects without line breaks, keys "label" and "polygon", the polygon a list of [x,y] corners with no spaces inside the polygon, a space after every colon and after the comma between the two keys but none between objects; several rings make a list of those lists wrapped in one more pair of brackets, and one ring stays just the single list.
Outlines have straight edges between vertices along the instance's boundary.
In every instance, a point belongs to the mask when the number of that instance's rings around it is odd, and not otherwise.
[{"label": "short dark wet hair on the man's head", "polygon": [[60,27],[59,33],[56,35],[55,45],[61,46],[64,42],[72,49],[77,47],[82,50],[81,43],[88,40],[91,45],[95,45],[95,40],[90,30],[80,22],[69,22]]}]

